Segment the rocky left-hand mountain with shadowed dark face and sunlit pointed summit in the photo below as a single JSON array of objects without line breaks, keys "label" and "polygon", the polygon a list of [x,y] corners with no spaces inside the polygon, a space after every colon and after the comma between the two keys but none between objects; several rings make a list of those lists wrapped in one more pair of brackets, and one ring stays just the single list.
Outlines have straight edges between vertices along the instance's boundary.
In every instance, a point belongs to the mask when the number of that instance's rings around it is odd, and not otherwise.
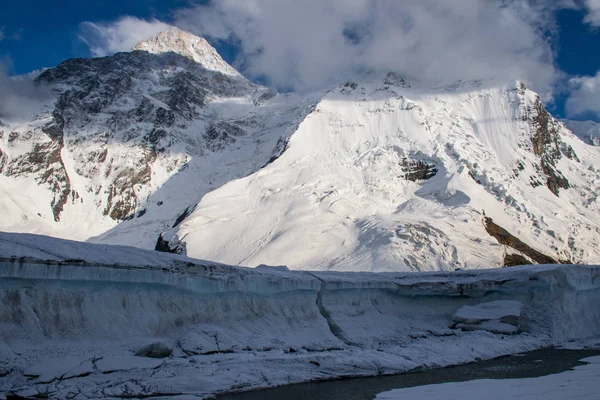
[{"label": "rocky left-hand mountain with shadowed dark face and sunlit pointed summit", "polygon": [[[254,149],[258,159],[244,160],[252,165],[231,171],[230,178],[253,171],[254,164],[267,162],[286,127],[303,112],[297,108],[287,115],[289,120],[276,120],[280,112],[273,108],[281,103],[292,107],[289,99],[246,80],[204,39],[176,28],[136,49],[71,59],[36,79],[56,98],[31,121],[0,128],[0,173],[13,180],[32,179],[43,193],[35,199],[35,214],[23,212],[4,221],[3,229],[19,230],[26,219],[46,233],[64,229],[67,237],[72,228],[78,238],[102,233],[143,216],[149,196],[190,168],[192,160],[218,158],[217,153],[225,157],[241,141],[251,141],[265,147]],[[266,94],[270,101],[259,102]],[[295,102],[293,108],[303,104]],[[272,132],[275,126],[279,129]],[[255,137],[263,129],[275,136]],[[251,146],[246,150],[252,151]],[[197,200],[192,195],[183,201]],[[176,203],[163,216],[165,224],[181,212]],[[93,222],[77,226],[80,218]]]}]

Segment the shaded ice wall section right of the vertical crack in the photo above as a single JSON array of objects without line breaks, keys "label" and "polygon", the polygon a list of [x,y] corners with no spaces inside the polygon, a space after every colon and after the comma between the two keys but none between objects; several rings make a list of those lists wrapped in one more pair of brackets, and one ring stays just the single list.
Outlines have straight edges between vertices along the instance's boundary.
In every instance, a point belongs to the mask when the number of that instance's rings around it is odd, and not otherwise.
[{"label": "shaded ice wall section right of the vertical crack", "polygon": [[598,266],[314,276],[344,340],[362,347],[382,350],[415,338],[455,336],[448,322],[458,308],[494,300],[520,301],[522,331],[552,344],[600,335]]}]

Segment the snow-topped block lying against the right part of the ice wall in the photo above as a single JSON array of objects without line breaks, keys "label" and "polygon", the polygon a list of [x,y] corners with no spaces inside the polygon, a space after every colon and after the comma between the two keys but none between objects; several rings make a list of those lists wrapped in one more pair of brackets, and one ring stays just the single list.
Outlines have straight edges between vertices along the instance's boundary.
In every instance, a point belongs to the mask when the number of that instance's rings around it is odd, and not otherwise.
[{"label": "snow-topped block lying against the right part of the ice wall", "polygon": [[499,334],[519,331],[523,304],[515,300],[497,300],[476,306],[463,306],[452,316],[451,329],[484,330]]}]

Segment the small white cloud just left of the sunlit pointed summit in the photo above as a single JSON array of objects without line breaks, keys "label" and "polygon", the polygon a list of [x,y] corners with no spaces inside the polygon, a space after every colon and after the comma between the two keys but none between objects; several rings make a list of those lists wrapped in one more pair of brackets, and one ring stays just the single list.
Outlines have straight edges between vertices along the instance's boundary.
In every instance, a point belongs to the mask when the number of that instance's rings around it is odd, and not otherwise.
[{"label": "small white cloud just left of the sunlit pointed summit", "polygon": [[136,44],[169,28],[164,22],[123,17],[116,21],[98,24],[82,22],[79,38],[87,44],[94,57],[103,57],[120,51],[130,51]]}]

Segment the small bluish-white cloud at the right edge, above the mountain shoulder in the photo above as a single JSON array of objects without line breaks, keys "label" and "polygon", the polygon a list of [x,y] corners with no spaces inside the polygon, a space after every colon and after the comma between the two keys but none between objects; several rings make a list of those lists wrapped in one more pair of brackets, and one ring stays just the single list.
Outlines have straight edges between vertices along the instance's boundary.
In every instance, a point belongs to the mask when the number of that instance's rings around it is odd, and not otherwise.
[{"label": "small bluish-white cloud at the right edge, above the mountain shoulder", "polygon": [[565,109],[570,118],[600,120],[600,70],[596,76],[572,78]]}]

